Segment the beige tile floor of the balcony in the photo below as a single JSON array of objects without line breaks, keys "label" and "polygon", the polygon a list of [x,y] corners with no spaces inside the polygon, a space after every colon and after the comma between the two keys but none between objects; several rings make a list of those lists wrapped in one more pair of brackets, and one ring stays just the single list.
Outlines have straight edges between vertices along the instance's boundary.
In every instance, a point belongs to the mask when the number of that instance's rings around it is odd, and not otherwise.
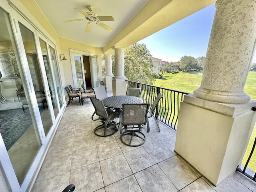
[{"label": "beige tile floor of the balcony", "polygon": [[122,144],[119,132],[106,138],[93,129],[90,100],[66,108],[32,192],[252,192],[256,183],[240,173],[214,187],[174,152],[176,131],[154,119],[143,146]]}]

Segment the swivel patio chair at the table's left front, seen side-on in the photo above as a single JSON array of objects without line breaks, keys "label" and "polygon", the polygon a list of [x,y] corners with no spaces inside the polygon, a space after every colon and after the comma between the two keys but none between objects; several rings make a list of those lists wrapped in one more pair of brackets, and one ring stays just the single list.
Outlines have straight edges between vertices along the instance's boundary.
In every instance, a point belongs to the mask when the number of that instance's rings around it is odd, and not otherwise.
[{"label": "swivel patio chair at the table's left front, seen side-on", "polygon": [[[102,100],[97,98],[90,97],[90,100],[95,109],[95,112],[92,114],[92,120],[100,120],[100,122],[102,122],[101,125],[94,129],[94,134],[100,137],[113,135],[118,130],[117,125],[119,122],[115,122],[114,120],[119,117],[119,111],[106,109]],[[98,115],[99,118],[93,119],[95,114]]]}]

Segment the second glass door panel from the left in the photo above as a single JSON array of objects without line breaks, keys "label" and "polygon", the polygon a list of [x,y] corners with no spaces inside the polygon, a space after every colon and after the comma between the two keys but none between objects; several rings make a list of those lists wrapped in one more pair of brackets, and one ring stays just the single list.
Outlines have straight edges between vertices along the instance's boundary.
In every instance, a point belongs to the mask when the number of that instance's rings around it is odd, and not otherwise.
[{"label": "second glass door panel from the left", "polygon": [[[45,135],[48,134],[50,128],[53,125],[50,110],[48,108],[48,100],[46,99],[43,74],[40,70],[38,54],[36,52],[36,43],[34,40],[34,33],[31,32],[28,28],[19,23],[20,33],[22,36],[22,41],[24,44],[26,57],[28,60],[28,67],[30,70],[33,87],[36,93],[36,101],[38,103],[38,109],[40,111],[40,116],[42,119],[42,124],[44,128]],[[28,106],[28,108],[31,106]]]}]

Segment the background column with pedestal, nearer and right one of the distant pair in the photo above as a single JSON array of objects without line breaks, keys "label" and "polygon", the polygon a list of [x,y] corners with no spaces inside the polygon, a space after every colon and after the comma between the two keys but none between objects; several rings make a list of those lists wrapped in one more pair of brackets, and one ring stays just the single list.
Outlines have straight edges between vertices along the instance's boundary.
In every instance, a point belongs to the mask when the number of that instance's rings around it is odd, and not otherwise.
[{"label": "background column with pedestal, nearer and right one of the distant pair", "polygon": [[124,47],[114,46],[115,50],[115,76],[113,79],[113,95],[126,94],[126,77],[124,76]]}]

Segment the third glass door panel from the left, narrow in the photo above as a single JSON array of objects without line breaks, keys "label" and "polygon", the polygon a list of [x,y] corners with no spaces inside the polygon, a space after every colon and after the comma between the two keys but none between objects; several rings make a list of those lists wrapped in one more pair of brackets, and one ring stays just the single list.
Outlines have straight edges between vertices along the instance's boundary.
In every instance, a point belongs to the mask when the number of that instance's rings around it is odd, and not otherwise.
[{"label": "third glass door panel from the left, narrow", "polygon": [[52,78],[52,71],[51,71],[51,67],[50,67],[49,57],[48,57],[47,50],[46,50],[46,42],[44,42],[41,38],[39,38],[39,43],[40,43],[42,56],[43,56],[43,60],[44,60],[44,69],[45,69],[47,81],[48,81],[48,90],[50,91],[46,94],[47,94],[47,96],[51,97],[54,116],[56,118],[56,116],[59,113],[59,108],[57,106],[56,92],[54,89],[55,86],[54,86],[54,81]]}]

